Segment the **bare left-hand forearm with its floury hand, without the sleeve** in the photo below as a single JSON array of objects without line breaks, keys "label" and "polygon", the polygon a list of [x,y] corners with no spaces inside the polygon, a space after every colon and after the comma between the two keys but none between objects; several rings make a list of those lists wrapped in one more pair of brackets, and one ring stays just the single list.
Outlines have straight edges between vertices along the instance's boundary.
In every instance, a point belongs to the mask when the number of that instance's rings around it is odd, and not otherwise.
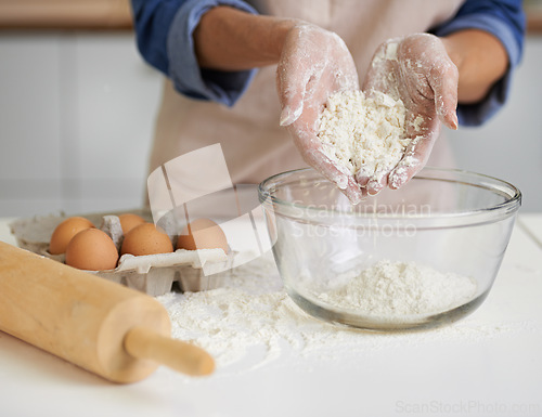
[{"label": "bare left-hand forearm with its floury hand, without the sleeve", "polygon": [[194,42],[202,67],[238,70],[278,64],[281,125],[308,165],[350,200],[361,199],[352,173],[331,161],[317,139],[318,118],[328,95],[359,88],[353,60],[337,35],[300,21],[216,8],[203,16]]}]

